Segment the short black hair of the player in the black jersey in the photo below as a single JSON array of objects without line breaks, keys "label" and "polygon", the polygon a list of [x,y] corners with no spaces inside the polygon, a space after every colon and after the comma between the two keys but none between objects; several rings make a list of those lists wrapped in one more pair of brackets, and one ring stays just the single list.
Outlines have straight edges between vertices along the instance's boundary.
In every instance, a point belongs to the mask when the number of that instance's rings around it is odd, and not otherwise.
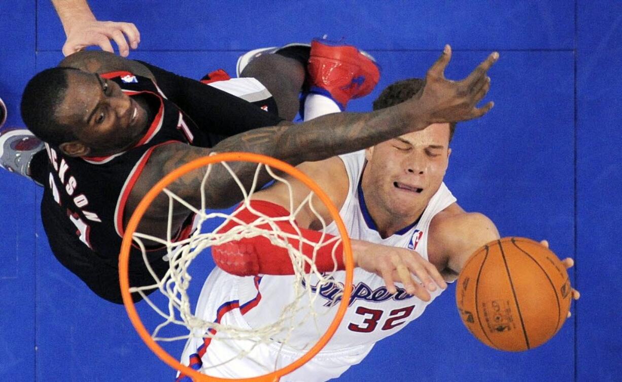
[{"label": "short black hair of the player in the black jersey", "polygon": [[67,93],[67,67],[45,69],[36,74],[24,89],[21,113],[26,127],[40,140],[58,146],[75,140],[70,126],[58,122],[56,110]]}]

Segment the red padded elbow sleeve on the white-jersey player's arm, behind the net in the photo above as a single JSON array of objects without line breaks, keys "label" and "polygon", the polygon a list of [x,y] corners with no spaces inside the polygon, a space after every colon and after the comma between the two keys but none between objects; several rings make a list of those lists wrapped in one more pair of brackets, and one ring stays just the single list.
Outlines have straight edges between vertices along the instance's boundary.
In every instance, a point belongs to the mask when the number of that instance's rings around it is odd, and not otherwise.
[{"label": "red padded elbow sleeve on the white-jersey player's arm, behind the net", "polygon": [[[250,206],[254,210],[269,217],[289,216],[289,212],[285,208],[268,201],[253,200]],[[246,223],[252,223],[259,218],[258,215],[249,211],[245,206],[238,209],[234,216],[236,219]],[[330,234],[322,234],[322,232],[300,227],[297,231],[294,225],[289,221],[274,221],[273,224],[279,226],[283,232],[292,235],[298,236],[298,231],[300,231],[300,234],[312,243],[325,242],[335,237]],[[294,224],[296,224],[295,221]],[[238,225],[238,222],[231,220],[220,232],[227,232]],[[270,225],[260,224],[257,228],[270,229]],[[314,246],[307,243],[303,243],[302,246],[300,246],[300,241],[297,239],[287,239],[287,241],[294,248],[302,248],[302,253],[305,256],[310,258],[313,256]],[[335,247],[335,245],[337,247],[334,250],[335,260],[333,260],[333,247]],[[287,249],[274,246],[274,244],[270,242],[270,239],[263,236],[247,237],[226,242],[219,246],[213,246],[211,248],[211,257],[220,269],[238,276],[294,274],[294,267],[290,261]],[[320,246],[315,254],[314,264],[319,272],[332,272],[335,268],[337,268],[337,270],[344,270],[345,264],[343,262],[343,246],[341,242],[338,244],[337,242],[332,242],[332,244]],[[309,272],[309,270],[310,266],[306,265],[305,272]]]}]

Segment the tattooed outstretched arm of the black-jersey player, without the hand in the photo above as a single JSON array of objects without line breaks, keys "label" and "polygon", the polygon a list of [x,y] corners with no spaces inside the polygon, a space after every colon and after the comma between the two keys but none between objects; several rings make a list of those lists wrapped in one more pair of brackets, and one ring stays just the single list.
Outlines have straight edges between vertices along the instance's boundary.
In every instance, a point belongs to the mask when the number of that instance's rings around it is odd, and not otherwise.
[{"label": "tattooed outstretched arm of the black-jersey player, without the hand", "polygon": [[[400,110],[397,110],[399,112]],[[384,141],[401,131],[421,130],[425,122],[407,122],[403,113],[390,112],[389,108],[373,113],[337,113],[316,118],[299,125],[264,127],[226,138],[213,149],[189,146],[185,143],[169,143],[157,147],[142,170],[132,189],[125,209],[125,223],[140,203],[142,197],[170,171],[212,151],[246,151],[273,156],[290,165],[315,161],[330,156],[361,150]],[[399,118],[402,115],[402,118]],[[248,162],[230,162],[231,170],[248,189],[253,181],[257,165]],[[201,183],[206,168],[192,171],[177,179],[168,189],[193,206],[200,208]],[[265,172],[259,176],[258,187],[272,178]],[[243,198],[238,184],[228,170],[221,165],[212,166],[205,188],[207,208],[227,208]],[[169,199],[160,194],[141,220],[138,231],[157,237],[165,237],[169,216]],[[188,216],[183,207],[173,212],[173,227],[179,227]],[[124,224],[125,224],[124,223]]]}]

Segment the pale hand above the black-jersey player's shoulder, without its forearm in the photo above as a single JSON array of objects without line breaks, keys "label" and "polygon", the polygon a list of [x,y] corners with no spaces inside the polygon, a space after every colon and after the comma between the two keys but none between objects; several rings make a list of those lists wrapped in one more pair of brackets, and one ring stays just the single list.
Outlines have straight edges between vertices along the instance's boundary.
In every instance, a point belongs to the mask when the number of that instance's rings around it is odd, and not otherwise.
[{"label": "pale hand above the black-jersey player's shoulder, without its forearm", "polygon": [[68,26],[63,54],[67,56],[94,45],[98,45],[106,52],[114,53],[113,45],[110,44],[111,40],[119,47],[119,54],[127,57],[129,46],[132,49],[138,47],[139,42],[141,42],[141,34],[131,22],[75,21],[70,27]]}]

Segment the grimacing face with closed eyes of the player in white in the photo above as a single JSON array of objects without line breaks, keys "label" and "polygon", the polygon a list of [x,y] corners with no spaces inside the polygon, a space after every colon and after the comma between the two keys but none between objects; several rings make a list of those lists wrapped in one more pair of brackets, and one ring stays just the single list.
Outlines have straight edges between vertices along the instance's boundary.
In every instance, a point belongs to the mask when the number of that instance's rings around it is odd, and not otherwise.
[{"label": "grimacing face with closed eyes of the player in white", "polygon": [[[366,202],[411,222],[439,189],[451,153],[449,124],[434,123],[366,151]],[[369,196],[368,196],[369,195]]]}]

